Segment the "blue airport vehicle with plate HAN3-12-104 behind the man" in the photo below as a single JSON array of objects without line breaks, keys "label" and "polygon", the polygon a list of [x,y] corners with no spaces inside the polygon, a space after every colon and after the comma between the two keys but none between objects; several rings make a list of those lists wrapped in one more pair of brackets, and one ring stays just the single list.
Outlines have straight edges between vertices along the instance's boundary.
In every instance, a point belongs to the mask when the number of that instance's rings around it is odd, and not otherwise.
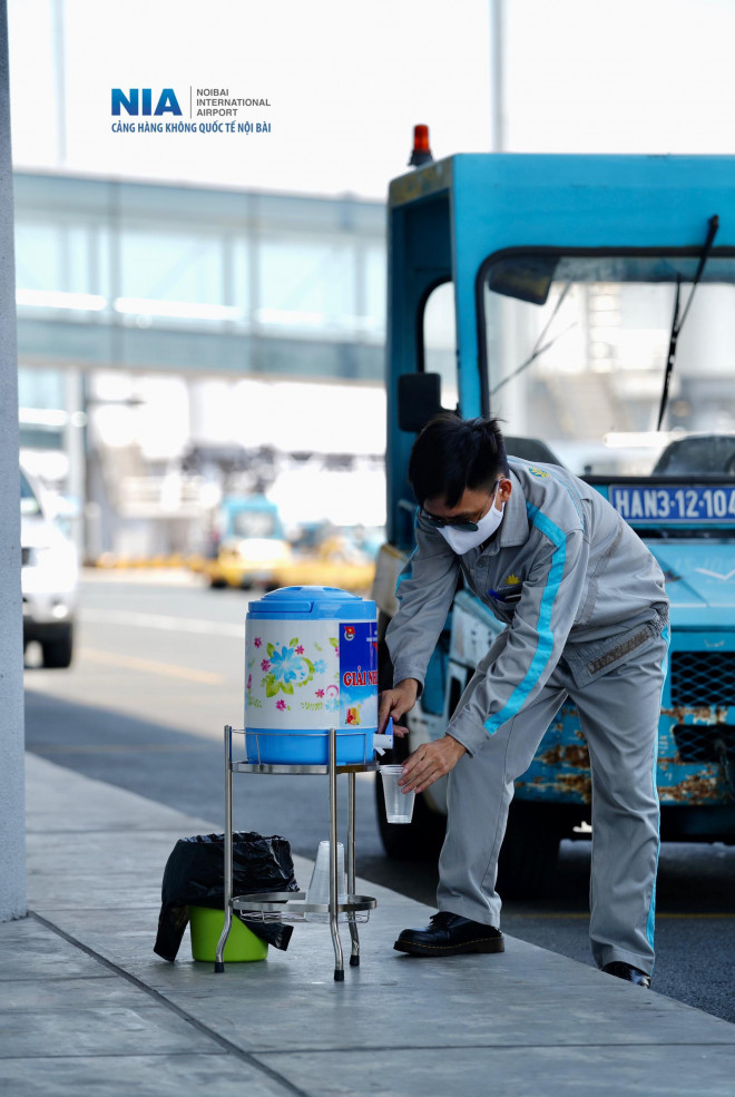
[{"label": "blue airport vehicle with plate HAN3-12-104 behind the man", "polygon": [[[498,415],[511,454],[584,476],[667,579],[664,840],[735,841],[734,346],[735,157],[458,155],[391,184],[382,629],[413,547],[409,452],[432,414]],[[400,756],[443,735],[501,627],[458,589]],[[444,784],[391,826],[378,783],[389,854],[434,855]],[[548,888],[560,840],[589,834],[590,795],[566,706],[516,785],[504,894]]]}]

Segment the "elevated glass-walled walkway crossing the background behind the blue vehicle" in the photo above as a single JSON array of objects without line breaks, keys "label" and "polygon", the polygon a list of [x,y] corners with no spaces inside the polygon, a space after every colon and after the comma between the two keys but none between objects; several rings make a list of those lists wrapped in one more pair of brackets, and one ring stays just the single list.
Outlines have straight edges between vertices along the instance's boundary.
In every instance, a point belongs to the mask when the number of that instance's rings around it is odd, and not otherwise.
[{"label": "elevated glass-walled walkway crossing the background behind the blue vehicle", "polygon": [[30,173],[14,185],[21,370],[382,381],[382,204]]}]

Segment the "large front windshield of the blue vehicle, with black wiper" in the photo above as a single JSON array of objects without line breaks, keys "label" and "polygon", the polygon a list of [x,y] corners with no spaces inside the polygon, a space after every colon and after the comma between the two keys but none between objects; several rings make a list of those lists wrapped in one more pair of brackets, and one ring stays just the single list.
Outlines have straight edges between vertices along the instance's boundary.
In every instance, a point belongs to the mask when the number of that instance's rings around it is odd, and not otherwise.
[{"label": "large front windshield of the blue vehicle, with black wiper", "polygon": [[735,474],[733,256],[707,262],[656,431],[677,283],[685,306],[697,265],[549,249],[489,259],[481,351],[506,433],[540,439],[578,474]]}]

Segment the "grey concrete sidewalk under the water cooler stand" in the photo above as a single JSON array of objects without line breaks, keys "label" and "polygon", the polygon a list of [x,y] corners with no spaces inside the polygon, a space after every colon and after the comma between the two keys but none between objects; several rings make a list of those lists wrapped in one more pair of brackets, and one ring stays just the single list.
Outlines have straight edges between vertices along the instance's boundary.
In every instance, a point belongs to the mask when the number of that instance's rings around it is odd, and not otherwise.
[{"label": "grey concrete sidewalk under the water cooler stand", "polygon": [[217,827],[27,765],[32,913],[0,924],[3,1093],[732,1097],[735,1026],[514,938],[501,956],[402,956],[396,933],[432,911],[366,882],[378,909],[344,983],[320,924],[225,974],[190,960],[188,936],[167,963],[164,865],[178,838]]}]

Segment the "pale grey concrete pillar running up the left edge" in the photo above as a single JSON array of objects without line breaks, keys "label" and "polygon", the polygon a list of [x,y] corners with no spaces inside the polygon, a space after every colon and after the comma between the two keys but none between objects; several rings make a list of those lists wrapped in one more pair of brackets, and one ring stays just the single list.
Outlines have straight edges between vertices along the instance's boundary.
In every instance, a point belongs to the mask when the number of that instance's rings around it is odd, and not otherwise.
[{"label": "pale grey concrete pillar running up the left edge", "polygon": [[18,354],[8,11],[0,0],[0,921],[26,913]]}]

